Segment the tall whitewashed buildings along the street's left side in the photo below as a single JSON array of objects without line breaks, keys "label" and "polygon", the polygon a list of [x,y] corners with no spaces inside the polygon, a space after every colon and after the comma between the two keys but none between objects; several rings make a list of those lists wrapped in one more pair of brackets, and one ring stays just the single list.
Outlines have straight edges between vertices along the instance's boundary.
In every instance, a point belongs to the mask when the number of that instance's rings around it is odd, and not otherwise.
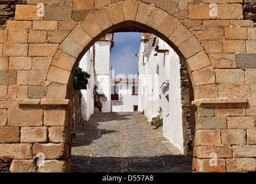
[{"label": "tall whitewashed buildings along the street's left side", "polygon": [[[106,34],[106,36],[97,41],[93,47],[91,47],[85,55],[82,57],[79,67],[83,71],[87,71],[91,77],[87,90],[82,90],[82,102],[81,110],[82,116],[85,120],[89,120],[91,114],[94,113],[95,101],[100,99],[102,103],[102,112],[110,112],[110,52],[113,47],[113,34]],[[106,98],[102,97],[94,98],[95,91],[94,86],[97,86],[97,92],[103,93]],[[95,101],[94,101],[95,99]],[[106,100],[105,100],[106,99]]]}]

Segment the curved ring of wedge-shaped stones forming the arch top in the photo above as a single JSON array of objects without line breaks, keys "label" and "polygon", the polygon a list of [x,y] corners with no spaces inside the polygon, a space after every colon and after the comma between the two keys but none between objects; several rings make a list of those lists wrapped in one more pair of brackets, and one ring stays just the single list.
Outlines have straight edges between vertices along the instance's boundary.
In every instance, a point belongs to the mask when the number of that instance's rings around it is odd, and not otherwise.
[{"label": "curved ring of wedge-shaped stones forming the arch top", "polygon": [[[146,30],[166,41],[185,62],[195,98],[216,98],[215,71],[196,36],[166,11],[138,1],[113,3],[79,22],[56,52],[46,82],[69,85],[85,52],[105,34],[122,28]],[[205,97],[196,92],[202,89],[212,92]]]}]

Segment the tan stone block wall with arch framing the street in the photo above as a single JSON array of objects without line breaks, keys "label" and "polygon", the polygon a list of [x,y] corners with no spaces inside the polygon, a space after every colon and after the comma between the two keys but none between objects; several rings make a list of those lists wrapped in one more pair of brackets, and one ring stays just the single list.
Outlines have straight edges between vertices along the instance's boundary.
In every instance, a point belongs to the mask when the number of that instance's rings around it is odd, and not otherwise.
[{"label": "tan stone block wall with arch framing the street", "polygon": [[151,32],[184,62],[191,169],[256,171],[256,28],[242,0],[27,0],[5,24],[0,160],[11,172],[71,171],[72,74],[95,41],[120,30]]}]

